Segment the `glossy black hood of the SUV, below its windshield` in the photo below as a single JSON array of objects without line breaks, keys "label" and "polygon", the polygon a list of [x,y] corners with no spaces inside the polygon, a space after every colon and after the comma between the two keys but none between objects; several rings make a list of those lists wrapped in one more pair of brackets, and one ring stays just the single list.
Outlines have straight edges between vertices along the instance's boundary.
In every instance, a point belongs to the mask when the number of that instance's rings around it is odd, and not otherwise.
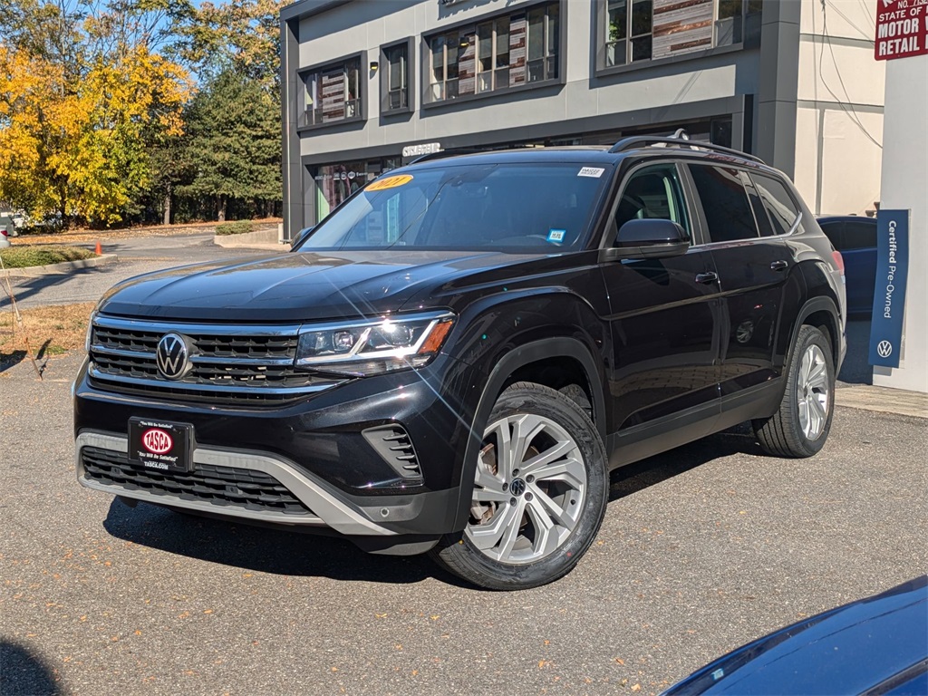
[{"label": "glossy black hood of the SUV, below its windshield", "polygon": [[498,276],[501,269],[533,258],[538,256],[473,251],[296,251],[187,265],[130,278],[104,295],[99,310],[115,316],[237,322],[378,315],[396,311],[434,284]]}]

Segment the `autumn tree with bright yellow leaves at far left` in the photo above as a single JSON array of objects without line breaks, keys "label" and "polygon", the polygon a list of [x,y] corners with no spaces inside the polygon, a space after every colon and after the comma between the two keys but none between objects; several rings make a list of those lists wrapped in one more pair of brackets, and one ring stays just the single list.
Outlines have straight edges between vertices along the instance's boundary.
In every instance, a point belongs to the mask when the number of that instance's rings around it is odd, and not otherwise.
[{"label": "autumn tree with bright yellow leaves at far left", "polygon": [[0,0],[0,200],[110,225],[151,181],[148,149],[182,130],[187,71],[157,52],[158,0]]}]

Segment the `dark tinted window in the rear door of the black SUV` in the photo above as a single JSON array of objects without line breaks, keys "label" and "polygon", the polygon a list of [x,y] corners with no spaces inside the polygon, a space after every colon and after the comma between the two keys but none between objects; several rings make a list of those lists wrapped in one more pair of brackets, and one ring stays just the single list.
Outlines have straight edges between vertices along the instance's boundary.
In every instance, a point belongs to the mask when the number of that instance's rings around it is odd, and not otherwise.
[{"label": "dark tinted window in the rear door of the black SUV", "polygon": [[738,170],[690,164],[690,174],[702,202],[709,241],[737,241],[759,236]]}]

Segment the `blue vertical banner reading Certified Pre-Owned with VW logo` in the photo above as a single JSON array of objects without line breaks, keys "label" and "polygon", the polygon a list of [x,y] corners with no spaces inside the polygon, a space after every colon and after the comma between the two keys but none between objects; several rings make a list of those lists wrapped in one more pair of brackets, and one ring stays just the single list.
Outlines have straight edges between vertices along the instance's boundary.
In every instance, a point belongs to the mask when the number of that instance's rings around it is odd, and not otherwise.
[{"label": "blue vertical banner reading Certified Pre-Owned with VW logo", "polygon": [[870,322],[870,365],[899,367],[909,276],[909,211],[876,216],[876,287]]}]

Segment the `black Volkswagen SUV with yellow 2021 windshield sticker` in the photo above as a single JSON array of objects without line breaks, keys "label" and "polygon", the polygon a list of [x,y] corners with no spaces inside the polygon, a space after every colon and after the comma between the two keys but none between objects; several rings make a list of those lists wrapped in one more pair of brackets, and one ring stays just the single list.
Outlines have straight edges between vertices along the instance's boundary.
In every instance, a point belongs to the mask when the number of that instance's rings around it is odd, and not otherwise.
[{"label": "black Volkswagen SUV with yellow 2021 windshield sticker", "polygon": [[439,153],[290,253],[110,290],[77,475],[538,586],[592,543],[612,469],[745,420],[775,456],[818,452],[844,320],[840,254],[749,155]]}]

